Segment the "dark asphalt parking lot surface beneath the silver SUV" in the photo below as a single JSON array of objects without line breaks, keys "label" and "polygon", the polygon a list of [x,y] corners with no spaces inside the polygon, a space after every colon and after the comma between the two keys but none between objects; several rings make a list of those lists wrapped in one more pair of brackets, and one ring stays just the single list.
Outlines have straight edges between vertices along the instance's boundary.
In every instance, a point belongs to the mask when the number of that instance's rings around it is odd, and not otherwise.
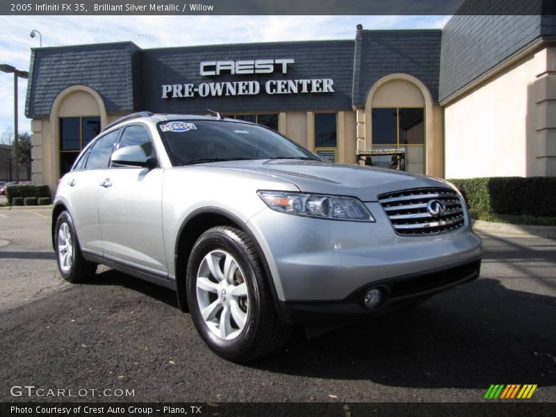
[{"label": "dark asphalt parking lot surface beneath the silver SUV", "polygon": [[28,400],[14,385],[133,389],[103,401],[476,402],[490,384],[538,384],[530,401],[556,399],[556,240],[483,236],[477,281],[236,365],[171,291],[108,268],[65,283],[49,215],[0,211],[0,401]]}]

